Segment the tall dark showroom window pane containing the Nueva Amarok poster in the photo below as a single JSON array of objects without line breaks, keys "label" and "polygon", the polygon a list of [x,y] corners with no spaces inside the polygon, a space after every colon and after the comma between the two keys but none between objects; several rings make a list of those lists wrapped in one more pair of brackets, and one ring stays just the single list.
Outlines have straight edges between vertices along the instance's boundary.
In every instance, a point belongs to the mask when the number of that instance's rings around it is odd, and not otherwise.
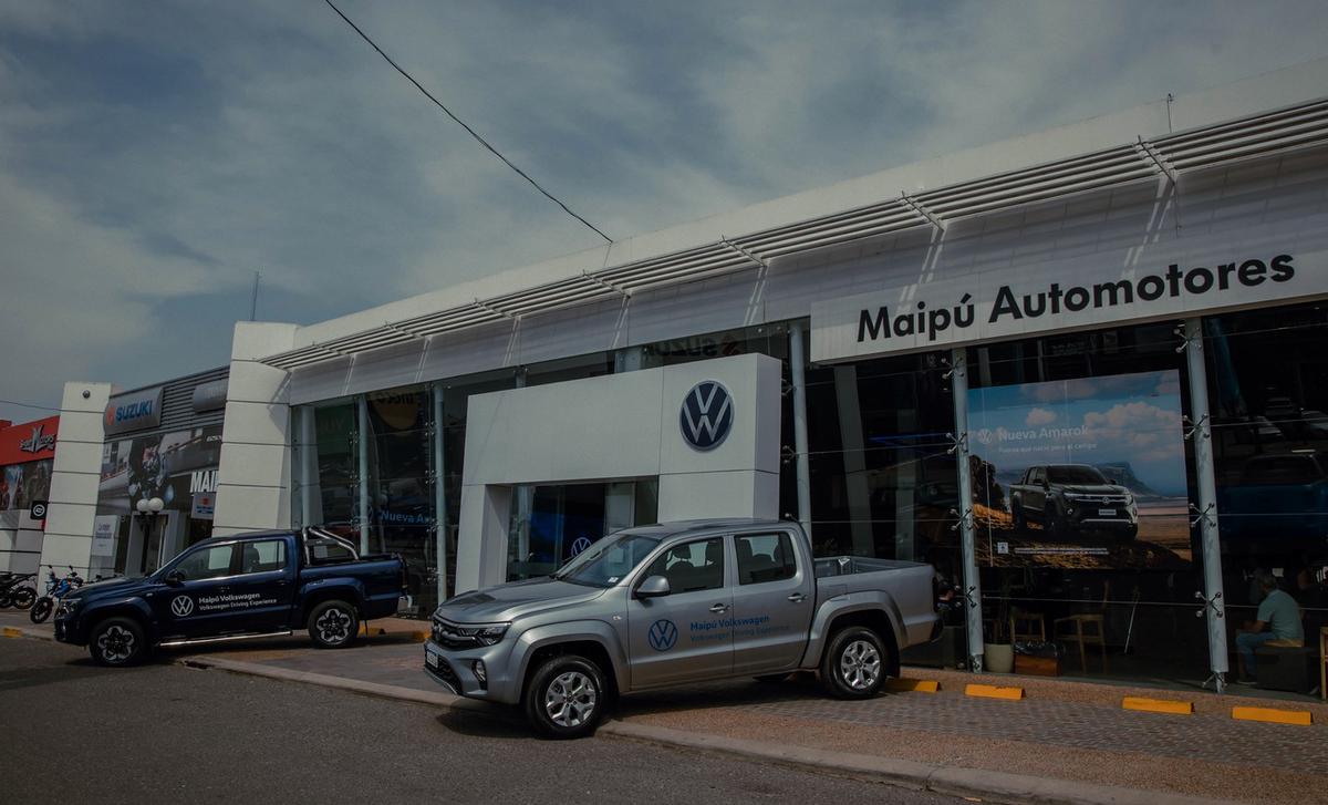
[{"label": "tall dark showroom window pane containing the Nueva Amarok poster", "polygon": [[972,347],[984,639],[1066,675],[1207,676],[1177,323]]}]

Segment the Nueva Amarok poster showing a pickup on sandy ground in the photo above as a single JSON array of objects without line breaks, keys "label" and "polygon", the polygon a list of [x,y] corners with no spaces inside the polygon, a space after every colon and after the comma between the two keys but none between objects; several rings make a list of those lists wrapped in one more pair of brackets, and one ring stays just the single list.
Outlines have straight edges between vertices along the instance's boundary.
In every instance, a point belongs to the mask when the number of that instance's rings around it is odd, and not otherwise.
[{"label": "Nueva Amarok poster showing a pickup on sandy ground", "polygon": [[1181,410],[1174,369],[971,389],[979,562],[1187,566]]}]

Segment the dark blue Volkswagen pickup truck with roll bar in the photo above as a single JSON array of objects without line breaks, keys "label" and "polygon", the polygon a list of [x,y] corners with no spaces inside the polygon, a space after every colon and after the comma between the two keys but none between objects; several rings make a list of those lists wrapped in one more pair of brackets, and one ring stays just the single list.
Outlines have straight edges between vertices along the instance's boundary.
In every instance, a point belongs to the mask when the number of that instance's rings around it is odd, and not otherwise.
[{"label": "dark blue Volkswagen pickup truck with roll bar", "polygon": [[397,612],[400,557],[359,557],[328,531],[214,537],[151,575],[88,584],[56,608],[56,639],[86,646],[102,666],[129,666],[154,647],[290,635],[319,648],[355,642],[361,620]]}]

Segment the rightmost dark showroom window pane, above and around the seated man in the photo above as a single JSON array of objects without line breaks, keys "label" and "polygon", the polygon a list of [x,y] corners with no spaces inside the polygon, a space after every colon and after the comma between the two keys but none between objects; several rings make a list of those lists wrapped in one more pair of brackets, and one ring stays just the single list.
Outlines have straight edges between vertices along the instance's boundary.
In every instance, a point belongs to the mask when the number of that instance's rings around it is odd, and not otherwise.
[{"label": "rightmost dark showroom window pane, above and around the seated man", "polygon": [[1328,306],[1212,316],[1203,333],[1228,631],[1258,619],[1263,570],[1300,606],[1299,639],[1317,646],[1328,626]]}]

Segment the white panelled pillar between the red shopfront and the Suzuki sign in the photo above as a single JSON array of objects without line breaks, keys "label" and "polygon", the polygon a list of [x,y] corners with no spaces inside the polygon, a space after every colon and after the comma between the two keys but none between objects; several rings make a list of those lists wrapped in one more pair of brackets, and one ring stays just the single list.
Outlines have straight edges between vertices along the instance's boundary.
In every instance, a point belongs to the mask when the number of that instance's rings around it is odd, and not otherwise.
[{"label": "white panelled pillar between the red shopfront and the Suzuki sign", "polygon": [[[42,566],[54,566],[56,575],[64,575],[73,566],[84,578],[92,578],[92,537],[105,441],[102,417],[109,400],[109,383],[74,381],[65,384],[60,401],[60,432],[40,559]],[[44,582],[45,577],[37,579],[37,590]]]}]

